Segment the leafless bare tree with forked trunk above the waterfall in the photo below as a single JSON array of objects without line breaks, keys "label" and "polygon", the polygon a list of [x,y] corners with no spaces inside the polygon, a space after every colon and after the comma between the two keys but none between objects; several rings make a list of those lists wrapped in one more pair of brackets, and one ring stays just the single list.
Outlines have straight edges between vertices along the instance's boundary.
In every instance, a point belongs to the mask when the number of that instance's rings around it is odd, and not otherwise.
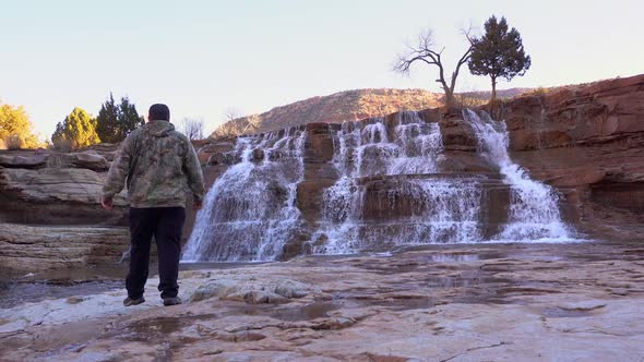
[{"label": "leafless bare tree with forked trunk above the waterfall", "polygon": [[453,106],[454,88],[456,87],[458,72],[461,71],[461,67],[467,63],[469,56],[472,55],[472,40],[469,33],[470,28],[463,31],[463,34],[468,41],[468,47],[461,59],[458,59],[456,68],[452,72],[452,76],[449,80],[445,79],[445,69],[443,60],[441,59],[441,55],[443,53],[443,50],[445,50],[445,47],[442,47],[440,50],[438,50],[439,48],[433,43],[433,34],[429,29],[418,35],[417,45],[407,45],[407,51],[398,55],[397,60],[394,62],[393,71],[401,74],[409,74],[409,68],[415,62],[424,62],[428,65],[438,67],[439,79],[436,81],[441,84],[441,88],[443,88],[443,92],[445,93],[445,104],[448,106]]}]

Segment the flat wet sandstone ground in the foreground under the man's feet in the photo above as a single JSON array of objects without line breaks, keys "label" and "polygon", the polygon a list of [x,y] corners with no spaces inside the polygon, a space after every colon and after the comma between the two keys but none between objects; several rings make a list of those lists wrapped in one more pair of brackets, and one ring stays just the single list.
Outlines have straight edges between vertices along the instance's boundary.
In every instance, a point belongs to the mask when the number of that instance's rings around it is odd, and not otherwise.
[{"label": "flat wet sandstone ground in the foreground under the man's feet", "polygon": [[154,279],[129,309],[122,289],[95,281],[5,304],[0,360],[644,360],[639,241],[184,268],[183,305],[162,306]]}]

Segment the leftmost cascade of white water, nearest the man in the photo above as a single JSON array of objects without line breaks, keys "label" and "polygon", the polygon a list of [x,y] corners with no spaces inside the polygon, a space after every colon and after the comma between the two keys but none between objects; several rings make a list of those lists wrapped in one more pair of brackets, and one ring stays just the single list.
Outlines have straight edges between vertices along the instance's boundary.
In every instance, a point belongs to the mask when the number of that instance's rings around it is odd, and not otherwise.
[{"label": "leftmost cascade of white water, nearest the man", "polygon": [[291,128],[237,140],[231,154],[240,161],[208,191],[184,262],[265,261],[282,253],[301,222],[295,202],[306,137],[306,128]]}]

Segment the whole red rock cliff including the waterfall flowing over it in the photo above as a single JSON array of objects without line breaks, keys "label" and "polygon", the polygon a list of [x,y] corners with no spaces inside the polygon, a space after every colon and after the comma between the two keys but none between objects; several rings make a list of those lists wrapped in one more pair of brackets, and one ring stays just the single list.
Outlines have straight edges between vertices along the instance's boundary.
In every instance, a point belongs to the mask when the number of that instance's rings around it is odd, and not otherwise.
[{"label": "whole red rock cliff including the waterfall flowing over it", "polygon": [[504,123],[429,109],[212,143],[200,154],[217,192],[188,258],[634,238],[643,82],[524,95],[496,112]]}]

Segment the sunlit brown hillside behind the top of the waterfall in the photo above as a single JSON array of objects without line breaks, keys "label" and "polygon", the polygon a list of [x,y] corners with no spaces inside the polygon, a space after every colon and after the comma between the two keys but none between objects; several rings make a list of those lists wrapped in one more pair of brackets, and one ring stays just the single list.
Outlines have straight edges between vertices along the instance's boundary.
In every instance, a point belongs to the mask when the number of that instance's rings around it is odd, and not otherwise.
[{"label": "sunlit brown hillside behind the top of the waterfall", "polygon": [[339,123],[385,116],[398,110],[420,110],[443,105],[443,95],[424,89],[355,89],[275,107],[267,112],[222,124],[214,138],[261,133],[311,122]]}]

